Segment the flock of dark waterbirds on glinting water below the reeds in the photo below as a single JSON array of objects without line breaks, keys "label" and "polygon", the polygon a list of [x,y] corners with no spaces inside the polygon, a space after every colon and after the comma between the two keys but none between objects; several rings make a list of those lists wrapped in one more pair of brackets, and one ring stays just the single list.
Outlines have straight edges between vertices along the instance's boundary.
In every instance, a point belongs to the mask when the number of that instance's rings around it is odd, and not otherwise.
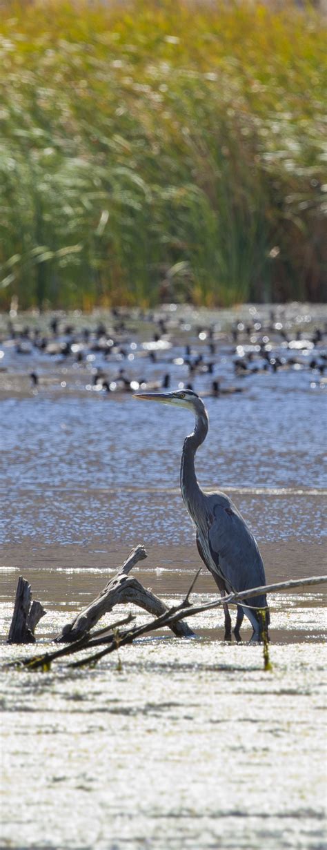
[{"label": "flock of dark waterbirds on glinting water below the reeds", "polygon": [[[28,324],[24,314],[8,316],[0,332],[0,372],[14,368],[25,374],[36,394],[55,386],[47,365],[51,361],[59,371],[58,388],[67,388],[69,381],[62,377],[69,372],[75,382],[79,375],[79,388],[112,397],[174,383],[220,398],[242,393],[245,378],[292,370],[306,370],[315,386],[323,388],[326,381],[327,323],[312,322],[308,330],[296,326],[296,317],[283,322],[273,309],[265,320],[256,309],[249,320],[233,320],[223,330],[217,321],[192,323],[188,315],[177,319],[168,309],[113,309],[105,320],[91,317],[87,324],[84,316],[81,324],[79,319],[51,314]],[[236,386],[222,378],[223,364]]]}]

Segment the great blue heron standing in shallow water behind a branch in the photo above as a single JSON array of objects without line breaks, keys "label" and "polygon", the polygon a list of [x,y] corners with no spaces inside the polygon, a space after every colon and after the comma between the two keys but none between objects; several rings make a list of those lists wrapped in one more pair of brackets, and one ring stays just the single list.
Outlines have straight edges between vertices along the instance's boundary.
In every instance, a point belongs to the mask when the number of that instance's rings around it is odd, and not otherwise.
[{"label": "great blue heron standing in shallow water behind a branch", "polygon": [[[217,587],[225,592],[240,592],[251,587],[262,587],[266,576],[257,541],[233,501],[219,490],[204,493],[195,475],[195,452],[206,439],[209,420],[202,399],[190,389],[172,393],[142,393],[134,398],[144,401],[160,401],[164,405],[186,408],[195,415],[195,429],[183,443],[180,483],[185,507],[195,524],[196,542],[200,558],[206,564]],[[228,606],[224,605],[225,639],[231,638],[231,620]],[[244,614],[251,621],[251,641],[262,636],[262,618],[258,609],[267,607],[265,595],[246,599],[246,605],[238,606],[234,634],[240,639],[240,624]],[[267,611],[266,623],[269,621]]]}]

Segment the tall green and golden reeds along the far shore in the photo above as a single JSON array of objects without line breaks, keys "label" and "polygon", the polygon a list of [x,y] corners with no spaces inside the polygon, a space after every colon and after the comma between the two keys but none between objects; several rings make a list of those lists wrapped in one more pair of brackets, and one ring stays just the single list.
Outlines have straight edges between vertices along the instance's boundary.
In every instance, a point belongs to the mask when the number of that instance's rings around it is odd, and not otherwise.
[{"label": "tall green and golden reeds along the far shore", "polygon": [[321,15],[4,3],[0,307],[323,297]]}]

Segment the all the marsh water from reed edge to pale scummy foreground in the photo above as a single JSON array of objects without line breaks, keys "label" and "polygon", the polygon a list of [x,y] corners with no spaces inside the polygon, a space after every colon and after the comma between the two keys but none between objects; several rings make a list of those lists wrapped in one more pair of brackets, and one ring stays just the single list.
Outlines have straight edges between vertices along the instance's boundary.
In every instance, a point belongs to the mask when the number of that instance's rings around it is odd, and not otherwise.
[{"label": "all the marsh water from reed edge to pale scummy foreground", "polygon": [[[108,314],[59,316],[51,354],[21,336],[26,325],[49,333],[49,319],[14,316],[9,332],[3,316],[0,325],[4,660],[26,654],[5,644],[19,575],[48,610],[37,630],[44,644],[138,543],[148,558],[135,575],[168,602],[200,565],[178,487],[192,417],[132,399],[121,369],[135,388],[169,373],[172,388],[191,381],[206,399],[200,484],[240,508],[269,582],[326,572],[324,308],[172,305],[128,314],[116,330]],[[115,337],[110,357],[89,343],[81,360],[55,350],[72,336],[65,323],[78,347],[83,327],[99,321]],[[265,366],[263,337],[278,369]],[[202,355],[193,371],[186,346],[191,360]],[[237,358],[249,358],[246,375]],[[212,397],[212,377],[241,392]],[[190,623],[196,639],[165,633],[121,649],[120,666],[3,670],[1,846],[325,847],[323,591],[271,597],[270,673],[246,626],[242,645],[223,643],[217,611]],[[194,600],[214,595],[202,570]]]}]

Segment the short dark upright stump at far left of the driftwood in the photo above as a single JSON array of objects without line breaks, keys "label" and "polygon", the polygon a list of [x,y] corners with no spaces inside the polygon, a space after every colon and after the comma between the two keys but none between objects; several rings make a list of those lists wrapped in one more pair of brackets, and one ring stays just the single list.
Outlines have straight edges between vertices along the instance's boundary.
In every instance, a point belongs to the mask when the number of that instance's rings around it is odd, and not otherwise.
[{"label": "short dark upright stump at far left of the driftwood", "polygon": [[46,613],[41,602],[31,603],[31,585],[20,575],[7,643],[35,643],[35,628]]}]

